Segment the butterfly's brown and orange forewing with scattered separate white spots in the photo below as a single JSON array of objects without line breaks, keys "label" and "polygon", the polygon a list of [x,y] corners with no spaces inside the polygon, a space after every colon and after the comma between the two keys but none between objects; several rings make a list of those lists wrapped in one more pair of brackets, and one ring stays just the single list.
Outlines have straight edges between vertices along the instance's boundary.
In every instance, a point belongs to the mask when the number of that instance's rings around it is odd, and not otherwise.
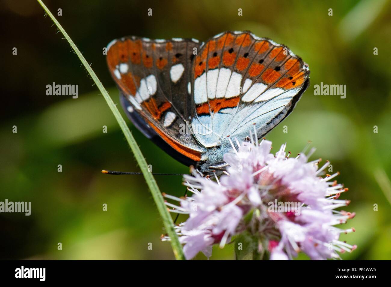
[{"label": "butterfly's brown and orange forewing with scattered separate white spots", "polygon": [[[203,147],[191,130],[188,93],[196,40],[150,40],[127,37],[108,47],[107,62],[120,91],[137,112],[172,148],[199,160]],[[129,109],[128,109],[129,110]]]}]

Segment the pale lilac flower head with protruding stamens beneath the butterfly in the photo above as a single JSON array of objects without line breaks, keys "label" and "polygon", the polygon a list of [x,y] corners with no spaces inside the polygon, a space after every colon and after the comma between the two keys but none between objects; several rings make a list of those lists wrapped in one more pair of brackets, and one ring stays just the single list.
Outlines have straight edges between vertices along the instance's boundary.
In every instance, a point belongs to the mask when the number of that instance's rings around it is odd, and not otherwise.
[{"label": "pale lilac flower head with protruding stamens beneath the butterfly", "polygon": [[209,257],[213,244],[222,247],[244,231],[265,242],[261,249],[268,250],[272,260],[292,259],[300,251],[314,260],[339,258],[337,252],[356,248],[339,241],[341,232],[355,230],[335,225],[346,223],[354,213],[335,210],[350,201],[339,200],[348,189],[330,181],[338,173],[321,176],[328,161],[320,168],[320,160],[308,162],[313,150],[289,157],[285,144],[274,155],[265,139],[260,144],[237,143],[237,148],[231,144],[233,152],[224,155],[226,175],[213,181],[194,172],[185,175],[191,197],[165,195],[180,202],[166,203],[173,212],[189,215],[177,226],[187,259],[199,251]]}]

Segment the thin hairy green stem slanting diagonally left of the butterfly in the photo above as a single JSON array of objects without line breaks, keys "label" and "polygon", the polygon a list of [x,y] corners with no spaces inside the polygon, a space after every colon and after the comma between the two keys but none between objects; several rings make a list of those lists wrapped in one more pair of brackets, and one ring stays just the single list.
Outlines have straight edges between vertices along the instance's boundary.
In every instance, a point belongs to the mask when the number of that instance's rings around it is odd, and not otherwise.
[{"label": "thin hairy green stem slanting diagonally left of the butterfly", "polygon": [[99,78],[95,74],[95,72],[92,70],[86,59],[84,59],[83,55],[75,45],[75,43],[72,41],[72,39],[66,34],[63,27],[60,25],[60,23],[56,20],[56,18],[53,16],[53,14],[49,11],[49,9],[46,7],[45,4],[41,0],[37,0],[38,3],[42,6],[42,8],[46,11],[46,13],[50,16],[50,18],[53,20],[53,22],[56,24],[57,28],[63,33],[65,36],[65,39],[68,41],[72,49],[75,51],[77,57],[79,57],[80,61],[83,63],[84,67],[87,69],[88,73],[91,75],[91,78],[97,85],[100,93],[102,93],[104,99],[106,100],[109,108],[111,109],[111,112],[113,112],[115,119],[117,119],[118,124],[120,125],[120,128],[122,132],[124,133],[127,143],[129,144],[133,154],[135,155],[136,161],[138,165],[140,166],[140,169],[144,175],[145,181],[148,184],[149,189],[151,190],[152,197],[156,203],[156,206],[158,207],[159,213],[161,218],[163,219],[164,227],[167,231],[167,234],[171,238],[171,246],[172,250],[174,251],[175,258],[178,260],[184,260],[185,256],[183,255],[182,246],[179,243],[178,236],[176,235],[176,232],[174,230],[174,222],[172,221],[172,217],[170,216],[170,213],[164,204],[163,196],[160,193],[159,187],[156,184],[156,181],[154,177],[152,176],[152,173],[148,171],[147,162],[145,161],[145,158],[143,157],[140,148],[138,147],[135,138],[131,134],[129,128],[126,125],[126,122],[122,118],[120,112],[117,109],[117,106],[114,104],[113,100],[111,100],[108,92],[103,87],[102,83],[100,82]]}]

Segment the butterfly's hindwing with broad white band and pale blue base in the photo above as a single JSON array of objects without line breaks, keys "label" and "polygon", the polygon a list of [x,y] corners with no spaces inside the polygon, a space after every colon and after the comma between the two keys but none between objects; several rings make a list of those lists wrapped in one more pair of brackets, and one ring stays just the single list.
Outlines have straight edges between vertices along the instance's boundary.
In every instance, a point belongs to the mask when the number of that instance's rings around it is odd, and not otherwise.
[{"label": "butterfly's hindwing with broad white band and pale blue base", "polygon": [[193,68],[195,134],[206,147],[227,135],[264,135],[293,109],[307,87],[308,66],[286,46],[250,32],[226,32],[201,47]]}]

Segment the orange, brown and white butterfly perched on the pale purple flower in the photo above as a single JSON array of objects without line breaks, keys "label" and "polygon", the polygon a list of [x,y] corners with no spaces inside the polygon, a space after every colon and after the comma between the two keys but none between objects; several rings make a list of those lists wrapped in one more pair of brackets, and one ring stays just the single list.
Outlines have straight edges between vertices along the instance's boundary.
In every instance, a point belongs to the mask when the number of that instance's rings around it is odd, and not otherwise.
[{"label": "orange, brown and white butterfly perched on the pale purple flower", "polygon": [[202,175],[224,170],[231,139],[263,136],[294,109],[308,65],[285,45],[249,31],[196,39],[111,41],[107,64],[127,117]]}]

